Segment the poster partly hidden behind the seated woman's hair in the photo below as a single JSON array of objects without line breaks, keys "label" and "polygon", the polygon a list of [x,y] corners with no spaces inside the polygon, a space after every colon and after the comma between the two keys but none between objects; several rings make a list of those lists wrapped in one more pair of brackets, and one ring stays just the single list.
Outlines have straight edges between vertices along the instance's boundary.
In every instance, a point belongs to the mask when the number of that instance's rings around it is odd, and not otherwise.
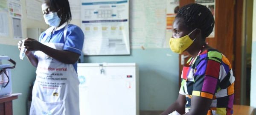
[{"label": "poster partly hidden behind the seated woman's hair", "polygon": [[[215,18],[215,0],[195,0],[195,3],[206,6],[211,12],[213,17]],[[212,38],[215,36],[215,27],[212,30],[212,33],[208,36]]]}]

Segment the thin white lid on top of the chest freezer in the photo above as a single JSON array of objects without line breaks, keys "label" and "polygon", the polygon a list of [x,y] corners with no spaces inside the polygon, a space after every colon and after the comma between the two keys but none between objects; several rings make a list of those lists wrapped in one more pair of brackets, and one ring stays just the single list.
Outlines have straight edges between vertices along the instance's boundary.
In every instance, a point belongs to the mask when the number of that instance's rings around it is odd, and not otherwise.
[{"label": "thin white lid on top of the chest freezer", "polygon": [[99,67],[99,66],[136,66],[136,63],[78,63],[78,67]]}]

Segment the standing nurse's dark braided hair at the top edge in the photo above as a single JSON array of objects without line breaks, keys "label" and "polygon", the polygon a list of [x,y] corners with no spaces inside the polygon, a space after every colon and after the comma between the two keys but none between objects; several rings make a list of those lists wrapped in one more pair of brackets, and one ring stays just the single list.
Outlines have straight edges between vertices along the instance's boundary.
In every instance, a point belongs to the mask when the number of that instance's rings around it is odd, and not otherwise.
[{"label": "standing nurse's dark braided hair at the top edge", "polygon": [[[46,1],[46,0],[45,0]],[[49,0],[51,3],[51,7],[55,10],[64,9],[64,17],[67,22],[72,20],[70,5],[68,0]],[[62,17],[60,17],[62,18]]]}]

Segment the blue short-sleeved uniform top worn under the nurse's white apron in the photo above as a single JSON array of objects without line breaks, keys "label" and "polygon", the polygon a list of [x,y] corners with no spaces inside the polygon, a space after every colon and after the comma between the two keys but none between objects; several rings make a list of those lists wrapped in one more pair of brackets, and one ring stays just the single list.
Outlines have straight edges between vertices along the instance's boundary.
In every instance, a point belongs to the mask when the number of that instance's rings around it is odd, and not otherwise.
[{"label": "blue short-sleeved uniform top worn under the nurse's white apron", "polygon": [[[67,27],[67,34],[66,34],[66,42],[64,41],[64,29],[65,25],[67,25],[67,22],[61,25],[59,28],[57,28],[54,33],[49,34],[45,42],[52,42],[52,43],[63,43],[64,48],[63,50],[69,50],[75,53],[78,53],[81,55],[82,48],[84,45],[84,33],[76,25],[69,24]],[[43,32],[39,37],[39,42],[46,36],[47,34]],[[77,72],[77,62],[73,64],[76,72]]]}]

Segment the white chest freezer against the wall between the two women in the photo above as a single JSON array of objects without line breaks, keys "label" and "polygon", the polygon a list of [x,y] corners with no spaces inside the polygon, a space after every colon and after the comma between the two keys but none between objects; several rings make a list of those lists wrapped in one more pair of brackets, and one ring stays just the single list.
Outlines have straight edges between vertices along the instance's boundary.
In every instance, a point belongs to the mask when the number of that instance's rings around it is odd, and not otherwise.
[{"label": "white chest freezer against the wall between the two women", "polygon": [[135,63],[79,63],[80,115],[139,115]]}]

